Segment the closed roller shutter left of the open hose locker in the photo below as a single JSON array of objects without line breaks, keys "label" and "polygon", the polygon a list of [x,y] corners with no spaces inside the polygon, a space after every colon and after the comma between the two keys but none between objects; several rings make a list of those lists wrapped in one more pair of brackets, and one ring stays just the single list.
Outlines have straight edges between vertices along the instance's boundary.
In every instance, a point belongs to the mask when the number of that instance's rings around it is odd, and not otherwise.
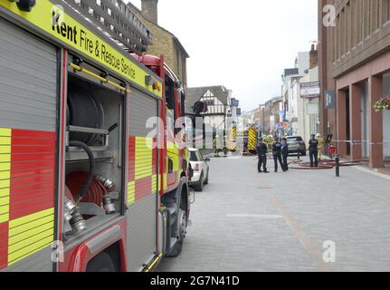
[{"label": "closed roller shutter left of the open hose locker", "polygon": [[57,51],[0,17],[0,272],[52,271]]}]

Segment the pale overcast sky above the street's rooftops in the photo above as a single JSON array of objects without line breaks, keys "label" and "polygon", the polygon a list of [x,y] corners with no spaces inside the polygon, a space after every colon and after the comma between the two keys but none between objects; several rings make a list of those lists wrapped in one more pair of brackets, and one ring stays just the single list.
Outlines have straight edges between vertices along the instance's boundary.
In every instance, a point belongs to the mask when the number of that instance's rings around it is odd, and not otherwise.
[{"label": "pale overcast sky above the street's rooftops", "polygon": [[190,87],[223,84],[246,111],[281,95],[283,69],[318,39],[315,0],[159,0],[158,24],[190,54]]}]

